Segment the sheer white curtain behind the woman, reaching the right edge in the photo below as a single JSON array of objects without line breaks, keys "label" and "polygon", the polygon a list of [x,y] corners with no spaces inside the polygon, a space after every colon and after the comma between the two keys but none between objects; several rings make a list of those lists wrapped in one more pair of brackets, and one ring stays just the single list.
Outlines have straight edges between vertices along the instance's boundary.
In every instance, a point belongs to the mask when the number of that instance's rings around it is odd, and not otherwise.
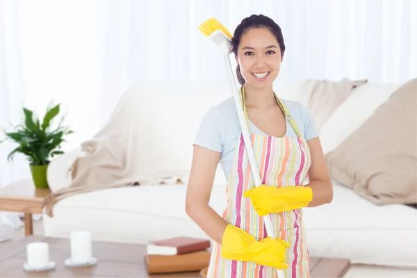
[{"label": "sheer white curtain behind the woman, reaching the right edge", "polygon": [[277,82],[306,78],[402,82],[417,76],[417,1],[107,0],[101,117],[127,86],[142,80],[222,80],[222,57],[197,31],[215,17],[233,33],[263,13],[284,33]]}]

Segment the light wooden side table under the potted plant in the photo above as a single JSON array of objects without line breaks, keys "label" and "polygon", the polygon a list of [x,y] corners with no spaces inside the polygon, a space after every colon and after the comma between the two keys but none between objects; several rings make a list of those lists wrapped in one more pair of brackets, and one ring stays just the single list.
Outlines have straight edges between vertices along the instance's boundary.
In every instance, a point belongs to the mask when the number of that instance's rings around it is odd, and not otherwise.
[{"label": "light wooden side table under the potted plant", "polygon": [[50,189],[35,188],[31,179],[22,179],[0,188],[0,211],[24,213],[24,234],[33,235],[33,213],[42,214],[42,203]]}]

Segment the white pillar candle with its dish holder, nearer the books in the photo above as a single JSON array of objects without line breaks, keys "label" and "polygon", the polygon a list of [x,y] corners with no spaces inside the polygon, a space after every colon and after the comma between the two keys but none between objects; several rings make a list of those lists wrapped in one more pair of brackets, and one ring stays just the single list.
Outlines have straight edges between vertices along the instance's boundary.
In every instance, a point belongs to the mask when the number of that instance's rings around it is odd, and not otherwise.
[{"label": "white pillar candle with its dish holder, nearer the books", "polygon": [[92,240],[89,231],[74,231],[70,236],[71,258],[65,260],[65,265],[82,268],[95,265],[97,259],[92,256]]}]

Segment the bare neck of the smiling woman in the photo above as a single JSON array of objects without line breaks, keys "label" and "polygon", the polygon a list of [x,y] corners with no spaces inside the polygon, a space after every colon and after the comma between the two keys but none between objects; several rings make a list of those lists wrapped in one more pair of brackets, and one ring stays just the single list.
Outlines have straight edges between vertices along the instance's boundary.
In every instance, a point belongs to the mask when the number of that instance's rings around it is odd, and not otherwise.
[{"label": "bare neck of the smiling woman", "polygon": [[249,84],[245,84],[244,88],[245,106],[266,108],[268,106],[275,106],[277,104],[277,99],[275,99],[272,85],[267,88],[255,88]]}]

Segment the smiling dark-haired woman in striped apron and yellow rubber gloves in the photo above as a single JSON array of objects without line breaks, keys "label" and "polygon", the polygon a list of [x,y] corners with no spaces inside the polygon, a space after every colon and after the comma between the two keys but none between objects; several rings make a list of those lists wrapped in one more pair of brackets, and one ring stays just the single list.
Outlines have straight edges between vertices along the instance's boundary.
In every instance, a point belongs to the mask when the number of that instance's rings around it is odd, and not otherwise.
[{"label": "smiling dark-haired woman in striped apron and yellow rubber gloves", "polygon": [[[279,99],[272,90],[285,51],[281,28],[272,19],[243,19],[232,47],[263,185],[254,186],[229,98],[209,109],[197,131],[186,212],[215,241],[208,277],[275,277],[276,268],[286,277],[309,277],[302,208],[328,204],[333,197],[316,126],[304,106]],[[228,178],[222,217],[208,205],[219,161]],[[263,215],[270,215],[275,239],[267,236]]]}]

